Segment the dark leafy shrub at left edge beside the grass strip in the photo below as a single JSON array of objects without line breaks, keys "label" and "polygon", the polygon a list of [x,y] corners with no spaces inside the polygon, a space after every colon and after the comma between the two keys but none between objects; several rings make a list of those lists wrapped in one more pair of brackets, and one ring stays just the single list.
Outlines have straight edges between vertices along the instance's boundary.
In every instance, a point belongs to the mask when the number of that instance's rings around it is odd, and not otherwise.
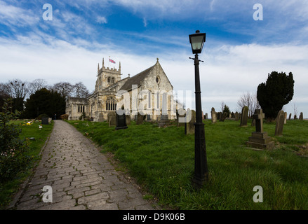
[{"label": "dark leafy shrub at left edge beside the grass strip", "polygon": [[3,112],[0,112],[0,182],[13,179],[30,160],[25,155],[29,147],[19,137],[21,129],[18,125],[9,124],[20,115],[18,111],[11,112],[10,104],[10,100],[6,100]]}]

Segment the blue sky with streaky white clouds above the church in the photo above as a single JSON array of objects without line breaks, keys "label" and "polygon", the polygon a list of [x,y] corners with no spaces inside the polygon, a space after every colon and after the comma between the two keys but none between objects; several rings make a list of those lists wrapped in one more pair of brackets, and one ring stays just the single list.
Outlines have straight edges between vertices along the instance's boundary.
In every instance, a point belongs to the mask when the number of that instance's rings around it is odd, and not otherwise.
[{"label": "blue sky with streaky white clouds above the church", "polygon": [[[53,20],[43,20],[43,4]],[[263,20],[254,20],[255,3]],[[272,71],[292,71],[293,101],[285,111],[308,118],[308,1],[14,1],[0,0],[0,82],[11,78],[83,82],[94,89],[98,63],[110,56],[123,78],[163,66],[175,91],[192,91],[188,35],[200,29],[199,57],[205,113],[225,102],[232,111],[244,92],[255,93]],[[105,65],[108,65],[105,63]],[[188,103],[189,104],[189,103]]]}]

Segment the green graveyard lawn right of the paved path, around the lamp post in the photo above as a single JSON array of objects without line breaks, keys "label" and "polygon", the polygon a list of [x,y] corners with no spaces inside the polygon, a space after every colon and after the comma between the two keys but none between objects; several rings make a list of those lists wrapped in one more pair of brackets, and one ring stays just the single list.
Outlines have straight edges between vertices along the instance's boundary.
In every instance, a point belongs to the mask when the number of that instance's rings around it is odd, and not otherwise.
[{"label": "green graveyard lawn right of the paved path, around the lamp post", "polygon": [[[308,209],[308,120],[287,120],[283,136],[275,123],[265,123],[273,150],[255,151],[246,141],[255,132],[248,119],[211,123],[204,120],[209,179],[201,190],[192,187],[194,135],[185,127],[132,121],[126,130],[107,123],[68,121],[91,138],[102,153],[112,152],[161,205],[171,209]],[[263,202],[255,203],[255,186],[263,189]]]}]

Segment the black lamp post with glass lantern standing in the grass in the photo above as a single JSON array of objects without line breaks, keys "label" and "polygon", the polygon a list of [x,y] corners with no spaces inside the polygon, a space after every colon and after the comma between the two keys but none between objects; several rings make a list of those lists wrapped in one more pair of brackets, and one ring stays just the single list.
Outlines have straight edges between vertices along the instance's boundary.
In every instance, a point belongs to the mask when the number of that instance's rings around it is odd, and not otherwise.
[{"label": "black lamp post with glass lantern standing in the grass", "polygon": [[201,53],[203,43],[206,41],[206,34],[200,33],[189,35],[189,42],[192,45],[192,53],[194,58],[194,75],[195,75],[195,94],[196,94],[196,123],[194,124],[194,186],[201,188],[208,179],[208,162],[206,160],[206,137],[204,134],[204,124],[202,122],[201,109],[201,89],[198,54]]}]

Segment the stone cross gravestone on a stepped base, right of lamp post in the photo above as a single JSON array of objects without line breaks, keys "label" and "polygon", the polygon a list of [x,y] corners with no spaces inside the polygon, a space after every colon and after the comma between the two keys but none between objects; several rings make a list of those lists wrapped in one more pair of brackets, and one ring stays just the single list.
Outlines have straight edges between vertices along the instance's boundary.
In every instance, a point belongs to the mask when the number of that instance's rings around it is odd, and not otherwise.
[{"label": "stone cross gravestone on a stepped base, right of lamp post", "polygon": [[255,132],[246,141],[246,145],[252,148],[268,149],[274,148],[274,141],[267,136],[267,132],[263,131],[263,118],[265,114],[262,109],[255,110],[253,119],[255,120]]}]

